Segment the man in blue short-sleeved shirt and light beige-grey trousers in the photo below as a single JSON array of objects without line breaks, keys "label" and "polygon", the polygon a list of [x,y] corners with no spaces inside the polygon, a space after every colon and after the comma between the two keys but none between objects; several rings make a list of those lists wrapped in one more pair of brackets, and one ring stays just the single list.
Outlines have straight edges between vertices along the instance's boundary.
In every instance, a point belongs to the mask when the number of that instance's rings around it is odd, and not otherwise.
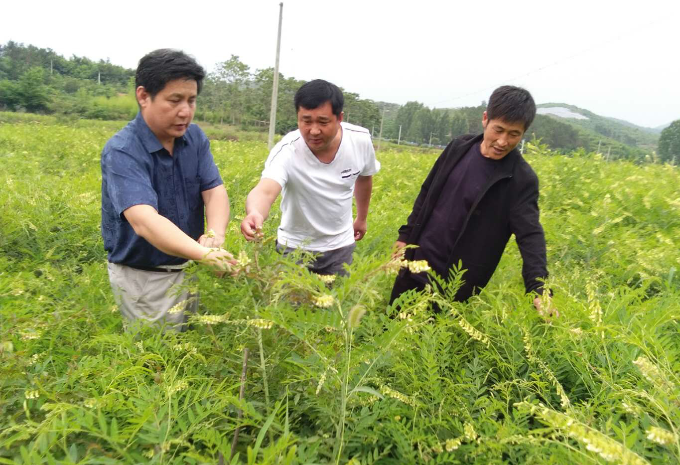
[{"label": "man in blue short-sleeved shirt and light beige-grey trousers", "polygon": [[233,263],[220,248],[228,196],[207,137],[191,124],[204,77],[184,52],[143,56],[135,75],[139,113],[101,154],[101,233],[114,296],[129,321],[182,330],[185,311],[198,304],[179,287],[188,260],[223,270]]}]

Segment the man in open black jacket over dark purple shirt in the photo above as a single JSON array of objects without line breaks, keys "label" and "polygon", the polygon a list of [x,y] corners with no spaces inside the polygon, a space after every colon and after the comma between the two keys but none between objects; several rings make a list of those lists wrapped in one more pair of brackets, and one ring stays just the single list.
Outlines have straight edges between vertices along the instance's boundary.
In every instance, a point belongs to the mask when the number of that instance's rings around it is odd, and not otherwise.
[{"label": "man in open black jacket over dark purple shirt", "polygon": [[[457,137],[442,152],[420,188],[407,224],[395,243],[407,244],[407,260],[427,260],[449,277],[462,262],[467,271],[455,300],[466,300],[486,286],[511,235],[522,254],[526,292],[543,293],[547,277],[545,236],[539,222],[539,179],[517,144],[536,115],[531,94],[522,88],[494,90],[482,116],[483,134]],[[422,290],[425,273],[400,271],[390,304],[406,290]],[[534,298],[541,311],[541,298]]]}]

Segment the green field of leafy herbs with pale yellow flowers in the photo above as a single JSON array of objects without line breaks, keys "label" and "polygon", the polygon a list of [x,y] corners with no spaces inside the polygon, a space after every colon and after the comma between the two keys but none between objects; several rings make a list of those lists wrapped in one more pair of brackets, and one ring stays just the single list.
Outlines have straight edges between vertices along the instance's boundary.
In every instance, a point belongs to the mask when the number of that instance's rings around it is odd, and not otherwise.
[{"label": "green field of leafy herbs with pale yellow flowers", "polygon": [[241,273],[192,269],[188,332],[126,332],[99,231],[122,124],[0,114],[0,464],[680,461],[677,169],[529,145],[560,316],[513,242],[468,302],[457,273],[395,311],[390,247],[435,155],[378,154],[367,237],[326,283],[274,252],[277,208],[245,243],[266,145],[214,141]]}]

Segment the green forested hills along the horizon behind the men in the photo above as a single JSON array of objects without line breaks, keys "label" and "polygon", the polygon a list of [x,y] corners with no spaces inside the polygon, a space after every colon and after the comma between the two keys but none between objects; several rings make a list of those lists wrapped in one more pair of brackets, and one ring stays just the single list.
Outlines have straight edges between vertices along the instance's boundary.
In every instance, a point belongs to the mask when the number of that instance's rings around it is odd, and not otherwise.
[{"label": "green forested hills along the horizon behind the men", "polygon": [[[269,125],[273,68],[255,69],[231,55],[209,71],[196,119],[231,124],[243,130],[265,131]],[[329,78],[333,80],[332,78]],[[303,81],[279,73],[276,132],[296,127],[294,92]],[[341,83],[339,83],[341,84]],[[394,142],[445,145],[453,137],[481,132],[477,107],[430,108],[418,101],[405,105],[362,99],[345,90],[345,120],[369,128],[373,137]],[[560,153],[583,148],[599,150],[609,159],[641,161],[656,150],[658,133],[590,111],[561,105],[587,116],[587,120],[537,115],[526,139],[540,139]],[[50,48],[0,44],[0,110],[57,114],[69,119],[127,120],[137,112],[134,70],[85,57],[65,58]],[[382,126],[382,128],[381,128]]]}]

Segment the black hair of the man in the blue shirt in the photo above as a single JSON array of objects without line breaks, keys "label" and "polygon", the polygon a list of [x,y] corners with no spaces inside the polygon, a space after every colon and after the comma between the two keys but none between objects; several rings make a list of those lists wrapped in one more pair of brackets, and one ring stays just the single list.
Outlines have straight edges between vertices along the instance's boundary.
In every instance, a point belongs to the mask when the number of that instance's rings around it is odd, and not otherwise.
[{"label": "black hair of the man in the blue shirt", "polygon": [[181,78],[196,80],[200,94],[205,69],[181,50],[159,48],[139,60],[135,72],[135,88],[143,86],[153,99],[165,88],[165,84]]}]

